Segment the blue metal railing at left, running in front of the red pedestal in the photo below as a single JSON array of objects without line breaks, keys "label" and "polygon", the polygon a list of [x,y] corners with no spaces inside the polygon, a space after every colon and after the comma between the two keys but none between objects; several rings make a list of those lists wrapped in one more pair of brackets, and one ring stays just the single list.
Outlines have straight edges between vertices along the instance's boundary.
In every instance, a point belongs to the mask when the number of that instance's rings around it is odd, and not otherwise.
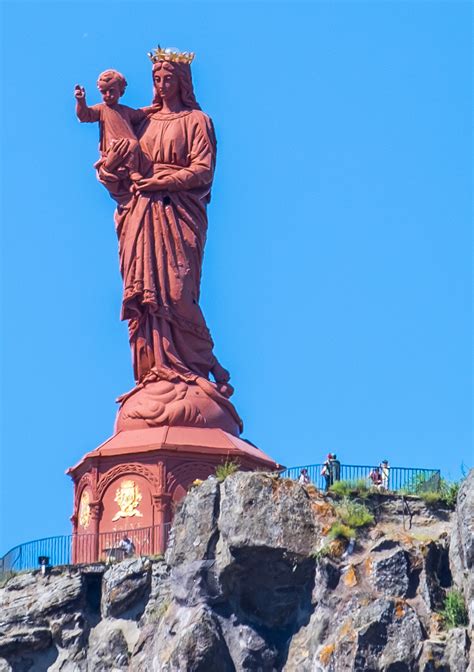
[{"label": "blue metal railing at left, running in front of the red pedestal", "polygon": [[127,553],[120,544],[126,535],[136,555],[163,553],[168,544],[171,523],[98,534],[67,534],[35,539],[12,548],[0,559],[0,574],[38,569],[39,558],[49,566],[75,565],[122,560]]}]

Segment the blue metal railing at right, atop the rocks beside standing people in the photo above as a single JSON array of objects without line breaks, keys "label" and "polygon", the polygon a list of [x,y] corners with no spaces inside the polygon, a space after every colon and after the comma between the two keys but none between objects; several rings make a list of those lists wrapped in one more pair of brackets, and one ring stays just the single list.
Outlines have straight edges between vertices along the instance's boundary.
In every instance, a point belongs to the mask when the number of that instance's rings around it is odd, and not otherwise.
[{"label": "blue metal railing at right, atop the rocks beside standing people", "polygon": [[[281,473],[281,478],[298,479],[301,470],[306,469],[309,479],[320,490],[326,489],[326,479],[321,471],[323,464],[303,464],[299,467],[290,467]],[[373,464],[341,464],[339,478],[333,480],[349,481],[356,485],[364,482],[370,486],[370,472],[378,465]],[[418,469],[414,467],[389,467],[387,490],[413,492],[438,491],[441,485],[439,469]]]}]

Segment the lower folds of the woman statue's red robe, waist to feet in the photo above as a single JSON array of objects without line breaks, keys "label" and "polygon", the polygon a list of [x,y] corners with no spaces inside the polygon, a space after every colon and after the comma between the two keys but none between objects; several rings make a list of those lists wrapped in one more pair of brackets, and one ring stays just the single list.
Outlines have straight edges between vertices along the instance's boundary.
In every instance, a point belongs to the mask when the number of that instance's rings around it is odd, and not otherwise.
[{"label": "lower folds of the woman statue's red robe, waist to feet", "polygon": [[153,367],[207,378],[215,363],[199,307],[207,226],[200,196],[137,195],[117,212],[122,319],[137,381]]}]

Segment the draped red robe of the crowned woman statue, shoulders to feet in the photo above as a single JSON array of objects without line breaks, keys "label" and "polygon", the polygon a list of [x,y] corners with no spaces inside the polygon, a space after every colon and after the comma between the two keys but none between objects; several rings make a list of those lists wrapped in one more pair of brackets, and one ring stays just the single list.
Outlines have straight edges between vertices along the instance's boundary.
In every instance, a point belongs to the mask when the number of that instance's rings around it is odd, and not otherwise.
[{"label": "draped red robe of the crowned woman statue, shoulders to feet", "polygon": [[153,174],[171,186],[130,199],[99,173],[119,201],[122,319],[129,321],[135,379],[208,378],[216,359],[199,287],[216,155],[212,122],[199,110],[156,113],[140,135]]}]

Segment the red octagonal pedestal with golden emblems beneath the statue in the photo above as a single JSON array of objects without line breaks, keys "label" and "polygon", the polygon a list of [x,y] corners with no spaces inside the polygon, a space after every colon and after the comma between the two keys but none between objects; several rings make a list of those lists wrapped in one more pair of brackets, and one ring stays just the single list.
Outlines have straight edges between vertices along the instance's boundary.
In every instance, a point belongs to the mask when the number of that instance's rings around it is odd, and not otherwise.
[{"label": "red octagonal pedestal with golden emblems beneath the statue", "polygon": [[155,427],[120,431],[68,469],[74,481],[73,561],[117,557],[128,536],[137,553],[162,553],[174,507],[218,464],[280,469],[250,443],[222,429]]}]

